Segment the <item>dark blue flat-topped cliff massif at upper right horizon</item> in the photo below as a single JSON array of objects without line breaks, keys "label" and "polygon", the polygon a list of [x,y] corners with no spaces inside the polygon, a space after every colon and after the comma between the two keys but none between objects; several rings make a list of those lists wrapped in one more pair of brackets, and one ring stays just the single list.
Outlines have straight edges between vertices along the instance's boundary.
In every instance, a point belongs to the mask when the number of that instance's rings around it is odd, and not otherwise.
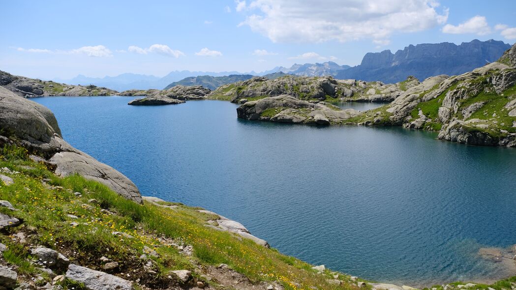
[{"label": "dark blue flat-topped cliff massif at upper right horizon", "polygon": [[380,80],[396,83],[413,75],[420,80],[435,75],[458,75],[496,61],[511,46],[503,41],[443,42],[409,45],[395,54],[367,53],[356,67],[339,71],[338,79]]}]

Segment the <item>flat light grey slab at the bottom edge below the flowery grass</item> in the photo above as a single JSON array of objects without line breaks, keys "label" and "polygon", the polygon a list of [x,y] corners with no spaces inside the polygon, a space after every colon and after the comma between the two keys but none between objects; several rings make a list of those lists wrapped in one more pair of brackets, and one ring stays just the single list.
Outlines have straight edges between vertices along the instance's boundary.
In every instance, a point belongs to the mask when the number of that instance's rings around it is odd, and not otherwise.
[{"label": "flat light grey slab at the bottom edge below the flowery grass", "polygon": [[88,290],[131,290],[133,288],[130,281],[74,264],[68,266],[66,278],[83,283]]}]

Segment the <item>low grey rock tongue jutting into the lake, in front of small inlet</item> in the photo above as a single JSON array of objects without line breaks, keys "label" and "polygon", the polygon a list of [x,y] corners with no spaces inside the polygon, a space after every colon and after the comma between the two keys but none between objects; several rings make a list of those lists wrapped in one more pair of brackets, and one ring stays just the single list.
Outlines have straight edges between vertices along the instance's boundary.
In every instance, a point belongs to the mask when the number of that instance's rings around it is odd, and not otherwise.
[{"label": "low grey rock tongue jutting into the lake, in front of small inlet", "polygon": [[307,102],[290,95],[247,102],[236,109],[238,118],[298,124],[342,124],[359,116],[357,110],[341,110],[325,102]]}]

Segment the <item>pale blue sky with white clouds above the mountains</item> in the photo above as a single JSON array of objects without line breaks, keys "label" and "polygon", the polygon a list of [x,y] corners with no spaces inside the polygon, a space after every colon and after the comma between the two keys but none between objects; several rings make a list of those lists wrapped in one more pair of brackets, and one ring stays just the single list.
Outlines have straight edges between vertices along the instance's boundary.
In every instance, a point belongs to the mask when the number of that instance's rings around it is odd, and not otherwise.
[{"label": "pale blue sky with white clouds above the mountains", "polygon": [[514,0],[5,1],[0,70],[53,79],[359,65],[409,44],[516,42]]}]

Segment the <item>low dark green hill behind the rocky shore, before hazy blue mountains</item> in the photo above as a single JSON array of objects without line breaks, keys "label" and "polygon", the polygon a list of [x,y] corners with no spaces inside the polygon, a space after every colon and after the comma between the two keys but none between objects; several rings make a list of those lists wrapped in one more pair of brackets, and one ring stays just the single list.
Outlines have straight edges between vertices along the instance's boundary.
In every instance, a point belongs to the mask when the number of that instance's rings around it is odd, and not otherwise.
[{"label": "low dark green hill behind the rocky shore, before hazy blue mountains", "polygon": [[[266,76],[269,79],[274,79],[280,76],[287,75],[284,72],[276,72],[276,73],[270,73],[266,74]],[[177,85],[183,85],[183,86],[203,86],[205,88],[215,90],[216,88],[227,85],[231,83],[239,82],[240,80],[248,80],[254,75],[252,74],[231,74],[227,76],[211,76],[211,75],[200,75],[200,76],[190,76],[185,77],[179,82],[174,82],[169,84],[165,87],[165,90],[168,90],[172,87],[175,87]]]}]

